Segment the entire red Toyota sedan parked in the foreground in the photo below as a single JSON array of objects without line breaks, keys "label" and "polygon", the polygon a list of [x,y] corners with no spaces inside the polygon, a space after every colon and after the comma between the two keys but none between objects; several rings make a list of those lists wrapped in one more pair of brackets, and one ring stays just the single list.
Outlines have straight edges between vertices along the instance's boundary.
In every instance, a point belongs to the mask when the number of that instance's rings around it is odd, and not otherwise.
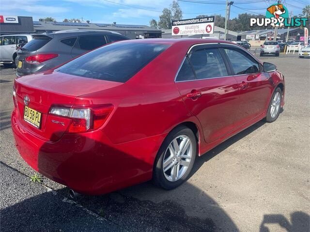
[{"label": "entire red Toyota sedan parked in the foreground", "polygon": [[113,43],[15,80],[16,147],[38,172],[103,194],[153,179],[172,189],[197,155],[284,104],[284,77],[220,40]]}]

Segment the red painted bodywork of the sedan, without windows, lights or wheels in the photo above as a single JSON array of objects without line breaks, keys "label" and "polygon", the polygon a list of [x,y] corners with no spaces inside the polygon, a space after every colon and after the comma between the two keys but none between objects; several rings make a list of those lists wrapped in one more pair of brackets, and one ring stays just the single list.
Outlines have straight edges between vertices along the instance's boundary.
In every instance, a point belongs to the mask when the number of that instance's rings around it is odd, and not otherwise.
[{"label": "red painted bodywork of the sedan, without windows, lights or wheels", "polygon": [[[19,153],[34,170],[86,194],[104,194],[151,180],[157,152],[179,124],[197,128],[198,153],[203,155],[263,119],[277,86],[284,96],[284,78],[278,71],[174,81],[191,46],[219,42],[232,44],[203,39],[119,42],[171,45],[125,83],[53,70],[16,78],[12,129]],[[195,91],[201,97],[189,98],[192,95],[187,94]],[[31,99],[29,107],[43,113],[40,129],[23,121],[26,95]],[[55,104],[112,104],[114,108],[99,129],[70,134],[66,130],[71,119],[49,114]]]}]

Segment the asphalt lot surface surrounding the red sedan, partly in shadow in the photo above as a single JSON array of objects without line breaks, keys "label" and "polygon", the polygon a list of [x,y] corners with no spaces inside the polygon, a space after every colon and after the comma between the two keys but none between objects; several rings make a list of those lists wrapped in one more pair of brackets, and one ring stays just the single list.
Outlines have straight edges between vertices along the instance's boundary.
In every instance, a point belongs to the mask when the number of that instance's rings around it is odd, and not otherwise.
[{"label": "asphalt lot surface surrounding the red sedan, partly in shadow", "polygon": [[310,60],[296,53],[260,59],[285,76],[286,104],[276,122],[254,124],[196,159],[190,179],[174,190],[144,183],[82,196],[82,207],[66,200],[66,187],[44,179],[55,195],[26,177],[35,172],[10,128],[15,75],[1,66],[1,201],[9,201],[1,203],[1,231],[309,231]]}]

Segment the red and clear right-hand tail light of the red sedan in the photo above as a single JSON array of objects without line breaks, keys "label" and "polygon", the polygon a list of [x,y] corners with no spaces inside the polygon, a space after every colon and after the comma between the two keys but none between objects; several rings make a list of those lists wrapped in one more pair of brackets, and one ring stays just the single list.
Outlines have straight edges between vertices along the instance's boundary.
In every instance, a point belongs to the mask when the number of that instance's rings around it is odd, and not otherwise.
[{"label": "red and clear right-hand tail light of the red sedan", "polygon": [[55,106],[50,109],[49,113],[71,119],[68,133],[82,133],[101,127],[107,121],[112,110],[113,105],[111,104],[90,107],[74,106],[73,108]]}]

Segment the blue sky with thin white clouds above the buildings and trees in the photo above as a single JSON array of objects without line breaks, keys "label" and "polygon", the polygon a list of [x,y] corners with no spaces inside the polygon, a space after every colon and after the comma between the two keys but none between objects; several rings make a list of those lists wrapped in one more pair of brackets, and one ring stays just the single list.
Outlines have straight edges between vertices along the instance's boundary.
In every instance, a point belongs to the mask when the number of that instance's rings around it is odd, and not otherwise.
[{"label": "blue sky with thin white clouds above the buildings and trees", "polygon": [[[191,2],[189,2],[191,1]],[[205,2],[208,4],[195,3]],[[93,23],[149,25],[159,19],[161,11],[169,7],[172,0],[0,0],[0,15],[32,16],[33,20],[53,17],[56,21],[64,18],[90,20]],[[179,0],[183,18],[197,15],[220,14],[225,16],[226,0]],[[266,8],[275,0],[234,0],[230,18],[241,13],[265,14]],[[282,0],[294,15],[301,14],[310,0]],[[242,9],[241,9],[242,8]]]}]

